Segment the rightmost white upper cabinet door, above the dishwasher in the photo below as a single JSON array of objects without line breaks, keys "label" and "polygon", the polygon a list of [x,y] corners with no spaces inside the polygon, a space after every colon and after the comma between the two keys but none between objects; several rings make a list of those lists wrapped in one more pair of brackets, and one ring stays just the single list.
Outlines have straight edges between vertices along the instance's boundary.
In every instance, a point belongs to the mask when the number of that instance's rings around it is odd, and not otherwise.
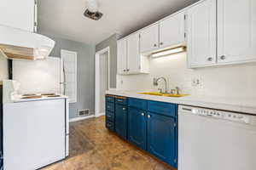
[{"label": "rightmost white upper cabinet door, above the dishwasher", "polygon": [[218,62],[256,59],[256,1],[218,0]]}]

